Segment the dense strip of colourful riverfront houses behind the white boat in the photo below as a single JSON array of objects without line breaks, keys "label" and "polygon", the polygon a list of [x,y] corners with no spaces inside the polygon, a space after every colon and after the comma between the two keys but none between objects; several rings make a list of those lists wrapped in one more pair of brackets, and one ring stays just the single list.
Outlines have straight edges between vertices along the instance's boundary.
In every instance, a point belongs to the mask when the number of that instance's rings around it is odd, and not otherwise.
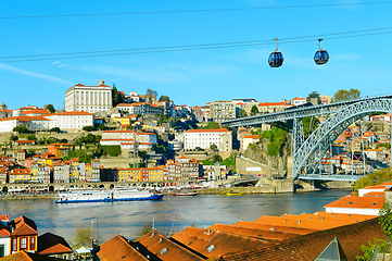
[{"label": "dense strip of colourful riverfront houses behind the white boat", "polygon": [[62,160],[72,144],[51,144],[48,153],[26,157],[26,150],[0,157],[0,184],[50,184],[98,182],[152,182],[164,186],[194,184],[199,179],[223,179],[226,166],[203,165],[195,159],[178,157],[156,167],[103,167],[98,159],[81,162]]}]

